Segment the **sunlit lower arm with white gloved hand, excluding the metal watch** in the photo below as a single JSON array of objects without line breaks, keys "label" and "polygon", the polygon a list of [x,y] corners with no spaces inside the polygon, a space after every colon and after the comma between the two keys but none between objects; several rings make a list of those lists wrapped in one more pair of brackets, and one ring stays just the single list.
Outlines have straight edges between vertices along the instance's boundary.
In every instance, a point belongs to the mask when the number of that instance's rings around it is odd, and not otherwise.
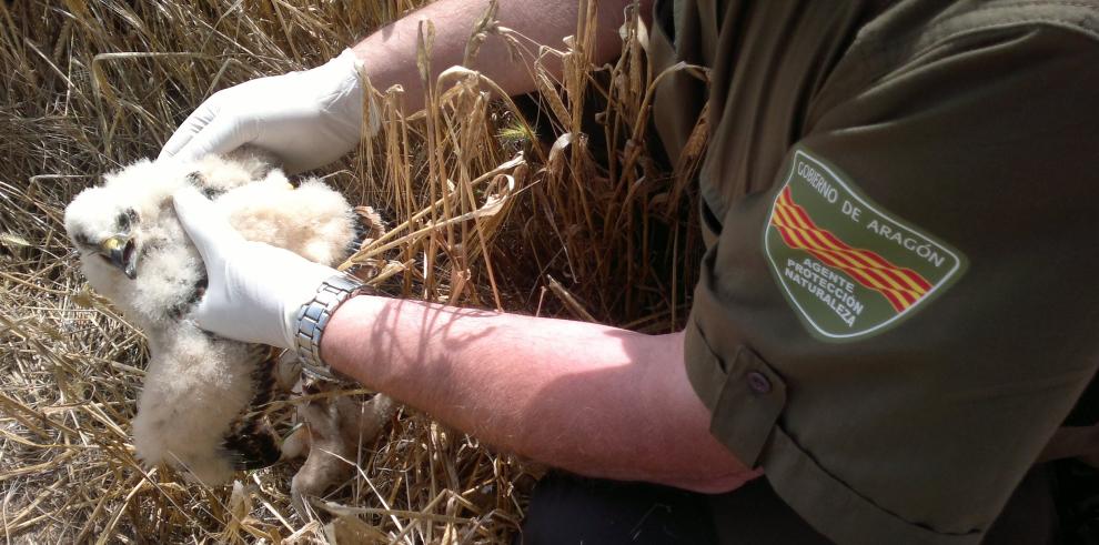
[{"label": "sunlit lower arm with white gloved hand, excluding the metal watch", "polygon": [[[188,317],[290,349],[296,311],[333,269],[241,239],[193,189],[180,221],[209,274]],[[321,341],[332,366],[505,451],[576,473],[718,492],[755,476],[708,431],[683,337],[357,296]]]}]

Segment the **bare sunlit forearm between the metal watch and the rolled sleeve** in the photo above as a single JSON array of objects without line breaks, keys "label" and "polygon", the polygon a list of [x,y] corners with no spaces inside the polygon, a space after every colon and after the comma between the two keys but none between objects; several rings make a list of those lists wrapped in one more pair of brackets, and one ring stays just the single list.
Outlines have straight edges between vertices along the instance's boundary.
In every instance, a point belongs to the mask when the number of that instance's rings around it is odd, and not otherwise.
[{"label": "bare sunlit forearm between the metal watch and the rolled sleeve", "polygon": [[754,475],[707,432],[680,335],[362,296],[322,351],[440,421],[576,473],[706,492]]}]

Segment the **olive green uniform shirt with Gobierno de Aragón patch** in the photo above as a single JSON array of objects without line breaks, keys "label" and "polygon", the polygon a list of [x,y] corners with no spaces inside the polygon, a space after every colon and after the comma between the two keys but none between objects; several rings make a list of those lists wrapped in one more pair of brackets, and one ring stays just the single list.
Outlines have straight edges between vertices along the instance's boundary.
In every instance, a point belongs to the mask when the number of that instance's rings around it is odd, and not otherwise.
[{"label": "olive green uniform shirt with Gobierno de Arag\u00f3n patch", "polygon": [[979,543],[1099,363],[1099,2],[664,0],[653,27],[673,160],[709,102],[686,361],[713,434],[836,542]]}]

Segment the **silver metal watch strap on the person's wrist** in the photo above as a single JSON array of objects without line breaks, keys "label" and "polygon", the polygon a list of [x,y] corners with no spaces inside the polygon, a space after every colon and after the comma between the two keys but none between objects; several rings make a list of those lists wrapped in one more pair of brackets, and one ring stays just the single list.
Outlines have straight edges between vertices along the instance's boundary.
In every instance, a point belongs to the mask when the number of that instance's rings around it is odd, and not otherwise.
[{"label": "silver metal watch strap on the person's wrist", "polygon": [[321,360],[321,335],[329,324],[329,319],[344,301],[363,291],[361,282],[344,274],[335,274],[321,282],[316,295],[298,311],[298,359],[302,362],[302,371],[313,377],[330,381],[347,381],[349,379],[332,371],[329,364]]}]

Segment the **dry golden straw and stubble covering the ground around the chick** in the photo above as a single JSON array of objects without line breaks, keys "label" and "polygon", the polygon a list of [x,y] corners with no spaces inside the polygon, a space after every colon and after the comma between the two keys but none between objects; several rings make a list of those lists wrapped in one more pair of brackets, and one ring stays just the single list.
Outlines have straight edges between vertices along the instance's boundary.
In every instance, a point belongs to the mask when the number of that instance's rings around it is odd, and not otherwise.
[{"label": "dry golden straw and stubble covering the ground around the chick", "polygon": [[[0,3],[0,527],[12,543],[507,542],[536,471],[405,411],[357,475],[303,521],[295,464],[206,488],[134,463],[129,422],[147,357],[140,332],[74,268],[61,211],[112,169],[155,155],[205,97],[316,65],[415,9],[405,0],[114,0]],[[651,159],[654,74],[636,8],[623,54],[594,67],[595,7],[567,43],[480,21],[466,48],[506,43],[534,61],[522,108],[454,68],[426,109],[376,90],[383,130],[330,183],[390,231],[352,259],[390,294],[594,320],[682,325],[697,262],[688,181],[702,128],[674,168]],[[542,65],[562,61],[563,77]],[[440,68],[440,67],[436,67]],[[533,105],[532,105],[533,104]],[[406,114],[405,114],[406,113]],[[291,404],[284,404],[289,407]]]}]

